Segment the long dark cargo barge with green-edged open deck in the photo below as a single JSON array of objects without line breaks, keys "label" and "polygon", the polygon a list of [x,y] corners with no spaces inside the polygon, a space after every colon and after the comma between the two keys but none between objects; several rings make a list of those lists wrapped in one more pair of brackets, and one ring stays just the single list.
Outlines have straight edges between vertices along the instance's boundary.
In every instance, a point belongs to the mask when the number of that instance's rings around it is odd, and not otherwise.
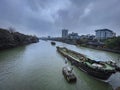
[{"label": "long dark cargo barge with green-edged open deck", "polygon": [[115,66],[103,61],[91,60],[85,55],[69,50],[65,47],[57,47],[57,51],[82,71],[101,80],[107,80],[117,71]]}]

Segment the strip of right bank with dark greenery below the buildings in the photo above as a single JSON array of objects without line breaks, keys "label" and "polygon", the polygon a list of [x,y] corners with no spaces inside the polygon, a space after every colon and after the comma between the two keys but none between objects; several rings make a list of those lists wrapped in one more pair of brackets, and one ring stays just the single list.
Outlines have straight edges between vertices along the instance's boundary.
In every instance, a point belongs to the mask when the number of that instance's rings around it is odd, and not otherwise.
[{"label": "strip of right bank with dark greenery below the buildings", "polygon": [[110,51],[115,53],[120,53],[120,36],[109,38],[105,40],[97,40],[90,38],[81,38],[81,39],[69,39],[69,38],[42,38],[43,40],[53,40],[63,43],[89,47],[98,50]]}]

